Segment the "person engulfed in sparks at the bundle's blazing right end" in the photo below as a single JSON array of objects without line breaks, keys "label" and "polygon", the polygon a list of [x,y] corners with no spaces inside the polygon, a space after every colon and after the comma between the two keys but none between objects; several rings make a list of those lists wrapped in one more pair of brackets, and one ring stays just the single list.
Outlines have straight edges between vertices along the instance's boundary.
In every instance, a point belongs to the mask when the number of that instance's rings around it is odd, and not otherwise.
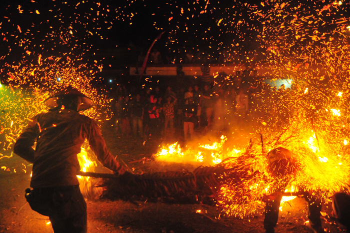
[{"label": "person engulfed in sparks at the bundle's blazing right end", "polygon": [[[265,218],[263,220],[263,227],[266,233],[274,233],[274,227],[277,224],[279,205],[282,199],[283,192],[290,181],[291,175],[298,169],[298,162],[294,159],[291,151],[278,147],[271,150],[267,154],[268,169],[273,177],[275,177],[275,184],[271,187],[272,194],[264,198]],[[317,195],[312,195],[308,191],[299,192],[308,203],[308,219],[310,226],[316,233],[324,232],[320,219],[321,200]]]}]

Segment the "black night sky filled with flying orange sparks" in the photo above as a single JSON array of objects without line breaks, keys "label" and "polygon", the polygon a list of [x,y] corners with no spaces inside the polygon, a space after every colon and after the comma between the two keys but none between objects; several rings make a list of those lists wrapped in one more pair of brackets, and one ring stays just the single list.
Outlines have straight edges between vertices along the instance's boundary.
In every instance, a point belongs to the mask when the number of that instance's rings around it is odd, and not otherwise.
[{"label": "black night sky filled with flying orange sparks", "polygon": [[[126,69],[163,31],[157,48],[183,62],[188,50],[218,63],[296,54],[350,25],[348,2],[334,1],[1,1],[0,62],[9,69],[40,55],[74,56],[87,66]],[[339,23],[341,22],[341,23]],[[316,38],[316,37],[318,38]],[[285,55],[285,54],[284,54]],[[283,56],[284,56],[283,55]],[[298,56],[298,55],[296,55]],[[294,56],[295,57],[295,56]],[[230,62],[227,59],[227,62]]]}]

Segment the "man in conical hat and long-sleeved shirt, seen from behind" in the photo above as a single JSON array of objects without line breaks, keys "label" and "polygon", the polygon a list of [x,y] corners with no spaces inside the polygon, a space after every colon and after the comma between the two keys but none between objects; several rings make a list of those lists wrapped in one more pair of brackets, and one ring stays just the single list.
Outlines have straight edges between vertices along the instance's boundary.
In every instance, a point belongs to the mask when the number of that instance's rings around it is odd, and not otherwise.
[{"label": "man in conical hat and long-sleeved shirt, seen from behind", "polygon": [[67,87],[45,104],[51,109],[33,117],[14,145],[14,153],[33,163],[33,189],[25,197],[33,210],[49,217],[55,233],[86,232],[86,203],[76,177],[81,145],[87,139],[97,159],[113,172],[125,169],[106,148],[96,122],[78,113],[92,106],[91,99]]}]

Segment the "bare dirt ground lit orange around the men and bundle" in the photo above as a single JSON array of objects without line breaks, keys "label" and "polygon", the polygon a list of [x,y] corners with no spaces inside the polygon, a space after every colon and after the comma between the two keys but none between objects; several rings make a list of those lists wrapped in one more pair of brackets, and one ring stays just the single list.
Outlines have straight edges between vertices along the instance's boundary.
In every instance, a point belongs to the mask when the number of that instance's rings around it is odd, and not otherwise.
[{"label": "bare dirt ground lit orange around the men and bundle", "polygon": [[[133,162],[150,157],[157,150],[155,143],[143,143],[142,140],[122,139],[112,134],[104,135],[108,148],[118,154],[126,163],[138,171],[170,169],[154,161]],[[9,156],[10,151],[1,152]],[[27,173],[21,169],[27,166]],[[30,165],[13,155],[2,158],[1,166],[9,170],[0,170],[0,232],[31,233],[52,232],[48,217],[32,211],[24,198],[24,190],[29,187]],[[28,166],[29,165],[29,166]],[[16,169],[14,173],[13,169]],[[171,165],[172,170],[178,167]],[[125,233],[215,233],[215,232],[264,232],[263,209],[250,218],[221,217],[214,206],[200,204],[167,204],[160,202],[125,202],[108,200],[86,200],[87,224],[89,233],[125,232]],[[200,210],[198,213],[197,210]],[[345,232],[345,230],[327,216],[333,216],[331,203],[326,203],[322,218],[326,232]],[[282,205],[276,232],[307,233],[313,232],[306,225],[307,204],[303,198],[295,198]]]}]

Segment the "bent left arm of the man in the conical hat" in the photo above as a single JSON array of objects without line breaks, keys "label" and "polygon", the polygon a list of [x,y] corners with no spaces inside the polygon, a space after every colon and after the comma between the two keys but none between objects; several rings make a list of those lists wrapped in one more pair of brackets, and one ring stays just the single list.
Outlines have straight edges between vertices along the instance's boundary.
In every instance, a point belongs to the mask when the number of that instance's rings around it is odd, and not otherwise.
[{"label": "bent left arm of the man in the conical hat", "polygon": [[15,154],[31,163],[34,162],[35,150],[32,146],[35,143],[37,132],[38,123],[36,120],[30,120],[27,127],[17,138],[17,141],[13,147],[13,152]]}]

